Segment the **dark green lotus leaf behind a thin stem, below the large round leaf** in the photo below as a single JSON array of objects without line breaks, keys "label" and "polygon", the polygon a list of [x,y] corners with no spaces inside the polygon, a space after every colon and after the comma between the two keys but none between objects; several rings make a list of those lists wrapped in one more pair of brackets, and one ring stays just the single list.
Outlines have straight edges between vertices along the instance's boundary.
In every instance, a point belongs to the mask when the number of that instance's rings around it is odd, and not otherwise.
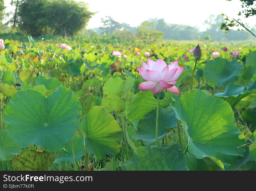
[{"label": "dark green lotus leaf behind a thin stem, below the large round leaf", "polygon": [[[83,138],[80,136],[75,136],[72,138],[72,143],[74,147],[75,159],[76,161],[79,161],[82,156],[85,155]],[[54,163],[58,163],[61,165],[74,163],[70,140],[66,142],[64,148],[60,151]]]}]

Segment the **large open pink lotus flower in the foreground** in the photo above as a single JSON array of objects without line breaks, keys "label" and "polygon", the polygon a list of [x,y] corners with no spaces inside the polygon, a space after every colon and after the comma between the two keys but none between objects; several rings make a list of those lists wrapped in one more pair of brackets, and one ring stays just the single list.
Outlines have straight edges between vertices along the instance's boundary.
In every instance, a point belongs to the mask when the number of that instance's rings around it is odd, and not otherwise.
[{"label": "large open pink lotus flower in the foreground", "polygon": [[142,62],[142,67],[138,67],[138,70],[141,76],[147,80],[138,86],[139,90],[152,90],[153,94],[162,90],[180,94],[175,86],[175,80],[180,76],[184,67],[178,67],[178,60],[167,66],[161,58],[155,62],[148,58],[147,64]]}]

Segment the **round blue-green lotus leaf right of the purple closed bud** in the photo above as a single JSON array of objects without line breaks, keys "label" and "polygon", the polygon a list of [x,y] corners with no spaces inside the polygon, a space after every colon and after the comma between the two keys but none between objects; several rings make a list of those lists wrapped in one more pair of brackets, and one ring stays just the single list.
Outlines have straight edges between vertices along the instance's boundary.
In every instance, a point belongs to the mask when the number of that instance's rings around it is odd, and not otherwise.
[{"label": "round blue-green lotus leaf right of the purple closed bud", "polygon": [[206,65],[203,72],[209,85],[218,85],[225,88],[227,84],[234,83],[243,72],[243,65],[237,60],[228,62],[223,58],[214,58]]}]

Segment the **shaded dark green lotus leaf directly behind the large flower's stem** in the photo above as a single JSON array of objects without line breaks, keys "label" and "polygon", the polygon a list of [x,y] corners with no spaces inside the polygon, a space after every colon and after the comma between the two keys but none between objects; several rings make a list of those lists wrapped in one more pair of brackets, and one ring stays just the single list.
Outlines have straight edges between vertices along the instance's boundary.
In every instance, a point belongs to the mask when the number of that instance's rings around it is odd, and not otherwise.
[{"label": "shaded dark green lotus leaf directly behind the large flower's stem", "polygon": [[[156,140],[156,116],[157,109],[150,111],[137,125],[138,132],[132,136],[134,140],[143,140],[145,145],[152,144]],[[172,109],[159,108],[158,140],[166,134],[166,128],[172,128],[177,124],[175,112]]]}]

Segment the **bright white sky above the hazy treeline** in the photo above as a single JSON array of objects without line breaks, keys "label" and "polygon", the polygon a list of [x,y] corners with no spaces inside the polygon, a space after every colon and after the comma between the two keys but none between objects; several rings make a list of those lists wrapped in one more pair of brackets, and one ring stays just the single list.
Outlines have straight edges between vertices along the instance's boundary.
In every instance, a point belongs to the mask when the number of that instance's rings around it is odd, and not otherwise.
[{"label": "bright white sky above the hazy treeline", "polygon": [[[4,0],[8,10],[11,10],[9,2]],[[76,0],[79,1],[79,0]],[[256,17],[243,18],[237,13],[241,10],[239,0],[80,0],[88,3],[89,10],[97,12],[88,22],[87,28],[96,28],[101,25],[100,19],[105,16],[112,17],[120,23],[128,23],[130,26],[139,26],[141,22],[163,18],[165,22],[172,24],[186,24],[198,26],[204,30],[203,22],[210,15],[224,13],[230,19],[240,18],[249,27],[256,25]]]}]

